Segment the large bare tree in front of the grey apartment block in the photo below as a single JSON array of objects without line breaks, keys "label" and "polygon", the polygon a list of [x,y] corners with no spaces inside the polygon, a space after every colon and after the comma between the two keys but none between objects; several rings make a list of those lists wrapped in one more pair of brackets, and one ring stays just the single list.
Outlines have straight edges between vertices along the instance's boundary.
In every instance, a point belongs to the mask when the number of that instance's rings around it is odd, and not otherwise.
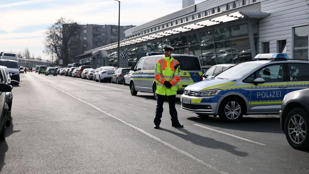
[{"label": "large bare tree in front of the grey apartment block", "polygon": [[50,26],[44,33],[46,38],[44,40],[44,53],[54,53],[56,57],[54,62],[59,64],[59,60],[63,59],[63,63],[70,63],[70,58],[80,54],[81,40],[78,40],[80,30],[78,23],[71,19],[61,17]]}]

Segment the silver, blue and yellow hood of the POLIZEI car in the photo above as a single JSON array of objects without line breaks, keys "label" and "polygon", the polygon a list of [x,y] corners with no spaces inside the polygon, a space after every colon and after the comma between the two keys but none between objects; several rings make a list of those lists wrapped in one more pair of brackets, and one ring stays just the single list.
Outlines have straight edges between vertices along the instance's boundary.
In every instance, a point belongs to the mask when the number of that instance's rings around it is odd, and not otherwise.
[{"label": "silver, blue and yellow hood of the POLIZEI car", "polygon": [[234,85],[236,80],[228,79],[206,79],[200,82],[193,83],[185,88],[185,90],[191,91],[204,91],[210,89],[220,89],[220,87]]}]

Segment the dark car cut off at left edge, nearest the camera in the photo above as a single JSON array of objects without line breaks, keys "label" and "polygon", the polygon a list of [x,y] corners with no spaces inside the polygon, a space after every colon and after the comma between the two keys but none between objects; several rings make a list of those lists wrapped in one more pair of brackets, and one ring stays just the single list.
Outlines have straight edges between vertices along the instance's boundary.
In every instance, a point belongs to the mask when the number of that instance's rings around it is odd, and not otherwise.
[{"label": "dark car cut off at left edge, nearest the camera", "polygon": [[5,83],[2,71],[0,71],[0,141],[5,140],[5,131],[7,124],[7,112],[9,106],[6,103],[6,92],[11,92],[12,87]]}]

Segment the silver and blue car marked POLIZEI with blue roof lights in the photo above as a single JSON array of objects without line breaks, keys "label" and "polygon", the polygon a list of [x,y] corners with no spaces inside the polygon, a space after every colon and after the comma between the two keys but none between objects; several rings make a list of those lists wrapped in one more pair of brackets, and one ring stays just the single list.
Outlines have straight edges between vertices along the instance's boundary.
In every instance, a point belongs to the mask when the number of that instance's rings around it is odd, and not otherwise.
[{"label": "silver and blue car marked POLIZEI with blue roof lights", "polygon": [[309,87],[309,61],[285,53],[258,54],[214,78],[193,83],[181,95],[181,109],[226,122],[243,115],[279,114],[283,97]]}]

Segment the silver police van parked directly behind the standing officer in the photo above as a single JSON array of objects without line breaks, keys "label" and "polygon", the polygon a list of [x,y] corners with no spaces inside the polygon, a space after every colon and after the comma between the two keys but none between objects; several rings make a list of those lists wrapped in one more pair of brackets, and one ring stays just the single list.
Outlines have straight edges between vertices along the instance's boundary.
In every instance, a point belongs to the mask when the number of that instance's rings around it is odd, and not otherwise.
[{"label": "silver police van parked directly behind the standing officer", "polygon": [[[185,87],[202,80],[200,60],[193,55],[172,54],[171,56],[179,62],[181,72],[177,94],[182,94]],[[155,65],[163,57],[162,54],[142,57],[135,67],[131,67],[134,71],[130,79],[131,95],[137,95],[138,91],[151,92],[156,99]]]}]

